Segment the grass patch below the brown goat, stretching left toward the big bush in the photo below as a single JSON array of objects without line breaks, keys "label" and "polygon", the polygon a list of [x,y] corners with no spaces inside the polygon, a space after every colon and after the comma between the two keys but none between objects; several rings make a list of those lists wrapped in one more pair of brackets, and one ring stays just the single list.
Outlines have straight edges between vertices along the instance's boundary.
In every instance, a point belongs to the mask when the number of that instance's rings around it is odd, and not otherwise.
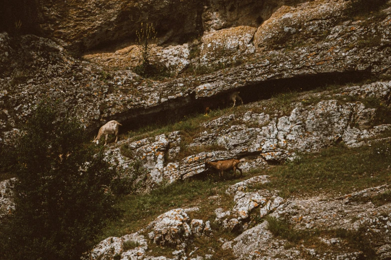
[{"label": "grass patch below the brown goat, stretching left toward the big bush", "polygon": [[232,196],[226,195],[225,190],[229,185],[248,177],[247,175],[234,178],[231,173],[230,175],[226,174],[226,179],[222,180],[216,173],[199,176],[197,179],[178,181],[159,187],[150,193],[123,196],[116,205],[116,208],[122,211],[122,217],[118,221],[108,223],[96,242],[98,243],[107,237],[121,237],[136,232],[145,228],[160,214],[175,208],[199,207],[199,211],[190,212],[189,216],[204,221],[212,220],[215,217],[216,205],[213,201],[208,201],[208,198],[220,195],[219,207],[227,210],[232,209]]}]

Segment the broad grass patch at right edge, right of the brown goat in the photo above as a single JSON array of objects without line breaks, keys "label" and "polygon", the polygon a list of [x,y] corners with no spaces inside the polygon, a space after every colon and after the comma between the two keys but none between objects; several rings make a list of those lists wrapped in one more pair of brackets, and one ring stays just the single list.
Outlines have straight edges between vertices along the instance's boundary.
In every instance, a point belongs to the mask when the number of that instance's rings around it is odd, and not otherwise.
[{"label": "broad grass patch at right edge, right of the brown goat", "polygon": [[349,193],[354,188],[365,189],[391,181],[390,149],[390,141],[361,148],[339,144],[319,153],[304,154],[262,174],[271,175],[271,182],[265,186],[279,189],[283,197]]}]

